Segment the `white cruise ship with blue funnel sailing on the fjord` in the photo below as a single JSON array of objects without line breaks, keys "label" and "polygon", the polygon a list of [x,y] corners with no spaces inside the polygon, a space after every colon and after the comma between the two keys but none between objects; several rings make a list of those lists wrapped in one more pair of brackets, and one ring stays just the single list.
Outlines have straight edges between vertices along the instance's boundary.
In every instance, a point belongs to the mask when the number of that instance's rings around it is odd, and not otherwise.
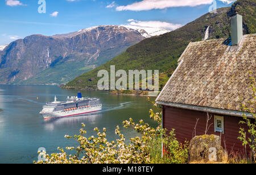
[{"label": "white cruise ship with blue funnel sailing on the fjord", "polygon": [[94,113],[101,109],[100,99],[84,98],[81,93],[77,93],[77,97],[67,97],[66,102],[58,102],[55,96],[53,102],[46,103],[46,106],[43,106],[40,114],[43,115],[44,119],[52,119]]}]

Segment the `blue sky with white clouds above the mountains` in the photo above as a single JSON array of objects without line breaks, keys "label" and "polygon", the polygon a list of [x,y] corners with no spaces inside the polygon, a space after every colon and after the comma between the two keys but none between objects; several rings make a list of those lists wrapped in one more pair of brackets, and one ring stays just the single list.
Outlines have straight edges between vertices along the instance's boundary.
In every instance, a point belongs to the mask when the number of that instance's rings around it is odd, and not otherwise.
[{"label": "blue sky with white clouds above the mountains", "polygon": [[235,0],[0,0],[0,45],[100,25],[175,30]]}]

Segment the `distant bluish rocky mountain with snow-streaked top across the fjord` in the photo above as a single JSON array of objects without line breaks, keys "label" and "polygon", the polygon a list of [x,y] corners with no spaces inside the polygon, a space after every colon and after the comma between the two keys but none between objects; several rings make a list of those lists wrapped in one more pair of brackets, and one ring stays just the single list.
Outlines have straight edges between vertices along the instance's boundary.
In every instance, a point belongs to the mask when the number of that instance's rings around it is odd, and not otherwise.
[{"label": "distant bluish rocky mountain with snow-streaked top across the fjord", "polygon": [[0,84],[65,84],[151,35],[143,28],[109,25],[27,36],[0,47]]}]

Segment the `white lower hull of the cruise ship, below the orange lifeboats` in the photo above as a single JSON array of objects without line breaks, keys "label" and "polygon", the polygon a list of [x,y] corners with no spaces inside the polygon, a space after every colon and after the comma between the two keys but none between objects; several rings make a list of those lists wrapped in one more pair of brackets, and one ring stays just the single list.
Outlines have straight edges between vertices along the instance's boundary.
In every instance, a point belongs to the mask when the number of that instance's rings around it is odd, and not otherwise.
[{"label": "white lower hull of the cruise ship, below the orange lifeboats", "polygon": [[94,113],[94,112],[100,111],[101,109],[102,109],[102,106],[96,106],[96,107],[81,108],[81,109],[75,109],[75,110],[69,110],[69,111],[55,111],[52,113],[41,112],[40,114],[43,115],[44,119],[53,119],[53,118],[76,116],[76,115],[87,114],[87,113]]}]

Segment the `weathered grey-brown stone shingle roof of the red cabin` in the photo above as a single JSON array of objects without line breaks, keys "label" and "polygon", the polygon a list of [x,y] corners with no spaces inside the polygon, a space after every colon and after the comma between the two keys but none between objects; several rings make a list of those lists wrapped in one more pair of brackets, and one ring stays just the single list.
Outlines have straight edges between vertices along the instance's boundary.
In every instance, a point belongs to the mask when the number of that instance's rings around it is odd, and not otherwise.
[{"label": "weathered grey-brown stone shingle roof of the red cabin", "polygon": [[190,43],[156,101],[240,111],[240,97],[246,103],[253,94],[249,70],[255,77],[256,34],[244,35],[240,46],[225,41]]}]

